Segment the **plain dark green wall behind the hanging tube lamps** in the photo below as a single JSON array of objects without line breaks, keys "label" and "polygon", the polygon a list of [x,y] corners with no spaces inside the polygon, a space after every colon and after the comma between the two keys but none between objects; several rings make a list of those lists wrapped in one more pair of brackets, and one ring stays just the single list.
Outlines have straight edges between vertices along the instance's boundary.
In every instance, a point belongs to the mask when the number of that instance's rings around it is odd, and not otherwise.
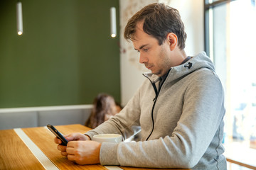
[{"label": "plain dark green wall behind the hanging tube lamps", "polygon": [[0,1],[0,108],[91,104],[102,92],[120,100],[118,0],[21,0],[21,36],[16,2]]}]

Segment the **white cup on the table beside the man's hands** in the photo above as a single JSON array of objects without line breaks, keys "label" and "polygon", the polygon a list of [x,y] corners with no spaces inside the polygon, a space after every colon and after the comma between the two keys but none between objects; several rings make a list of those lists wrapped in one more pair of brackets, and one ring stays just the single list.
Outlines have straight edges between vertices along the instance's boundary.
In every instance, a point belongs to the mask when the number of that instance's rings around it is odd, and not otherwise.
[{"label": "white cup on the table beside the man's hands", "polygon": [[92,140],[97,142],[112,142],[112,143],[119,143],[122,141],[122,135],[119,134],[100,134],[94,135]]}]

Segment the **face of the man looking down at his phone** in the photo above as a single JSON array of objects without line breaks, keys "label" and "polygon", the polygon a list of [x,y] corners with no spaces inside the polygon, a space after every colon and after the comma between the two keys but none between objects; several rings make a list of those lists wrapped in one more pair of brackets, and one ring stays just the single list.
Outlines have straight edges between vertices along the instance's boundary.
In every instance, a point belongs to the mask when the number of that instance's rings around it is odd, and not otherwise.
[{"label": "face of the man looking down at his phone", "polygon": [[143,22],[137,24],[135,39],[132,40],[134,49],[140,53],[139,62],[150,69],[153,74],[161,77],[171,68],[171,50],[169,43],[162,45],[156,38],[143,30]]}]

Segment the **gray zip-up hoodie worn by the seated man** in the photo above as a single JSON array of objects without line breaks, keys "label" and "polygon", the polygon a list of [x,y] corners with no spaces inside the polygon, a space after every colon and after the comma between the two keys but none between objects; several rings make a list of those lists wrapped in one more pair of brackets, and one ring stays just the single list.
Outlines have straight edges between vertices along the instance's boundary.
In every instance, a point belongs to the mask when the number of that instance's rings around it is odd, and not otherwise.
[{"label": "gray zip-up hoodie worn by the seated man", "polygon": [[[124,109],[86,133],[119,133],[124,140],[141,126],[140,142],[103,142],[102,165],[150,168],[226,169],[223,156],[223,86],[205,52],[144,81]],[[156,86],[156,90],[154,89]]]}]

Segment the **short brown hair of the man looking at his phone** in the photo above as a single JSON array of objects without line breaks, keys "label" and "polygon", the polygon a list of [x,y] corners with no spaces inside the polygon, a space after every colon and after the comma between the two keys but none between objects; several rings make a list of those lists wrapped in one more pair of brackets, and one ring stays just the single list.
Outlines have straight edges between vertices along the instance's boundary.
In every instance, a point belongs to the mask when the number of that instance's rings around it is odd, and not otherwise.
[{"label": "short brown hair of the man looking at his phone", "polygon": [[178,37],[178,47],[185,48],[186,33],[184,24],[178,10],[164,4],[154,3],[145,6],[129,19],[124,29],[124,38],[126,40],[136,40],[137,23],[144,21],[143,30],[145,33],[153,36],[162,45],[169,33],[174,33]]}]

